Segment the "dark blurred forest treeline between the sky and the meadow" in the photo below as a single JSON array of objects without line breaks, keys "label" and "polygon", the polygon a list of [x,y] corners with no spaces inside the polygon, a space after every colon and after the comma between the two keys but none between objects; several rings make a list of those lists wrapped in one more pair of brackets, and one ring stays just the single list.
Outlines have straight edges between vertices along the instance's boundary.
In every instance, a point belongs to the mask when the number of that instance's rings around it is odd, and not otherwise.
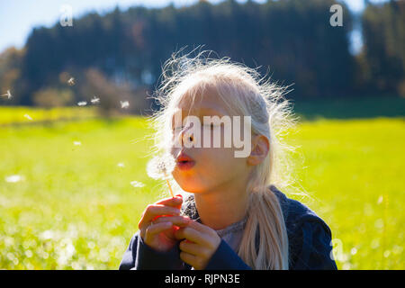
[{"label": "dark blurred forest treeline between the sky and the meadow", "polygon": [[[329,8],[340,4],[343,26],[332,26]],[[130,100],[148,109],[163,63],[184,47],[200,45],[211,57],[229,57],[258,67],[288,97],[318,99],[405,95],[405,1],[366,2],[361,23],[364,46],[352,55],[349,33],[356,18],[329,0],[235,0],[163,8],[118,7],[31,31],[23,49],[0,55],[0,104],[57,106],[90,101],[116,105]],[[67,85],[74,77],[75,85]],[[119,104],[119,103],[118,103]]]}]

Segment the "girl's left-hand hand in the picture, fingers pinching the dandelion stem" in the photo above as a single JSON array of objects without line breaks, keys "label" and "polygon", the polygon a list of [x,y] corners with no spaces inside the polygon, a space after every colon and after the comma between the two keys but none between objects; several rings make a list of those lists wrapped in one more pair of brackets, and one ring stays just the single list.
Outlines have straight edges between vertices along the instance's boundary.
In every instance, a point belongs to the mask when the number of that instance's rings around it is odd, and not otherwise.
[{"label": "girl's left-hand hand in the picture, fingers pinching the dandelion stem", "polygon": [[157,251],[168,251],[178,240],[174,232],[187,225],[189,220],[180,215],[183,199],[181,195],[166,198],[147,206],[139,220],[139,235],[148,245]]}]

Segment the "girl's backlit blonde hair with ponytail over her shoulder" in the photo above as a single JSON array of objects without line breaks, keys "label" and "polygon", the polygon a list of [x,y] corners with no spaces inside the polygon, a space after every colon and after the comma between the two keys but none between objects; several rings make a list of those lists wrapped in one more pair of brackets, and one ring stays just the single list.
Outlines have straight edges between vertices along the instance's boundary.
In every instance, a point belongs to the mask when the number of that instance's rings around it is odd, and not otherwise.
[{"label": "girl's backlit blonde hair with ponytail over her shoulder", "polygon": [[[211,51],[199,52],[193,58],[189,57],[191,53],[179,56],[180,52],[166,61],[161,85],[155,91],[161,109],[151,117],[156,129],[154,151],[164,152],[169,148],[172,109],[186,92],[202,93],[207,85],[212,85],[230,110],[250,115],[252,133],[265,135],[270,149],[266,159],[254,167],[247,184],[247,223],[238,256],[253,269],[288,269],[284,215],[277,196],[269,189],[271,184],[278,187],[289,184],[290,165],[285,152],[292,147],[282,139],[296,119],[291,117],[290,103],[284,98],[285,87],[270,83],[256,69],[231,62],[229,58],[211,58]],[[176,193],[185,194],[173,179],[171,182]]]}]

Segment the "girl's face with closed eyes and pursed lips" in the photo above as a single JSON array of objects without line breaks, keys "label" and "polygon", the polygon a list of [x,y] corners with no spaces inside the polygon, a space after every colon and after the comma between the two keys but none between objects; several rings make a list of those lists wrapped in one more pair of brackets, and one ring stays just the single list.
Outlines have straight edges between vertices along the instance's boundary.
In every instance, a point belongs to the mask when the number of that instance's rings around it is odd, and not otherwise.
[{"label": "girl's face with closed eyes and pursed lips", "polygon": [[[175,181],[186,192],[204,193],[218,190],[220,187],[226,187],[227,185],[243,184],[247,180],[251,166],[247,165],[246,157],[235,157],[235,150],[240,150],[240,148],[234,148],[233,141],[231,141],[230,148],[224,147],[224,125],[203,127],[203,116],[222,117],[226,115],[232,119],[225,107],[226,104],[223,103],[220,96],[211,87],[207,87],[203,94],[196,94],[192,106],[190,97],[185,94],[175,107],[175,113],[181,112],[182,123],[180,128],[174,127],[174,115],[172,119],[171,153],[176,160],[181,160],[181,156],[184,156],[184,154],[193,159],[192,165],[177,163],[173,171]],[[184,133],[187,134],[187,131],[190,131],[190,127],[192,127],[187,123],[184,126],[183,120],[187,115],[196,116],[201,121],[200,147],[193,145],[191,148],[186,148],[183,144],[175,145],[175,141],[182,143],[179,139],[182,139]],[[214,130],[216,129],[220,129],[220,148],[214,148],[213,145]],[[204,131],[206,133],[211,131],[211,145],[208,148],[203,145]],[[244,136],[242,135],[242,137]]]}]

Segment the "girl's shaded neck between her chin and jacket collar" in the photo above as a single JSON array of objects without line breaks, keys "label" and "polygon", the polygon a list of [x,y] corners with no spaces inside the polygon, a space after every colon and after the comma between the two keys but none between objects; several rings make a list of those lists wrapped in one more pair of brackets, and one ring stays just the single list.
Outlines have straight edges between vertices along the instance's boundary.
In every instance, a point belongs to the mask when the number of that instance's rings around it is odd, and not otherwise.
[{"label": "girl's shaded neck between her chin and jacket collar", "polygon": [[247,179],[232,181],[203,193],[194,193],[195,206],[202,224],[211,229],[224,229],[246,217]]}]

